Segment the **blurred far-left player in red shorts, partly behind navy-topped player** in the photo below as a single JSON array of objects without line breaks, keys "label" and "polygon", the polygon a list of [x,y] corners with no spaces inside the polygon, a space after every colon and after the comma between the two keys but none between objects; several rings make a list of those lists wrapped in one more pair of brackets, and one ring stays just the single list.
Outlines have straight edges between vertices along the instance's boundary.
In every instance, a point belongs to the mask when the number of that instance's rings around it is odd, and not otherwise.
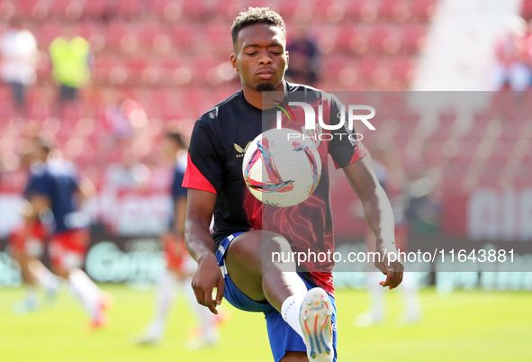
[{"label": "blurred far-left player in red shorts, partly behind navy-topped player", "polygon": [[[24,149],[21,158],[21,167],[28,171],[32,177],[32,163],[34,152],[32,143]],[[27,197],[29,190],[26,189],[24,196]],[[23,285],[26,288],[25,300],[15,305],[15,312],[23,314],[32,312],[38,307],[37,284],[46,291],[48,298],[52,298],[59,290],[59,278],[53,275],[47,267],[41,263],[44,252],[44,243],[48,231],[41,222],[41,215],[31,213],[31,207],[27,202],[23,205],[23,225],[16,228],[9,237],[11,257],[21,267]]]}]

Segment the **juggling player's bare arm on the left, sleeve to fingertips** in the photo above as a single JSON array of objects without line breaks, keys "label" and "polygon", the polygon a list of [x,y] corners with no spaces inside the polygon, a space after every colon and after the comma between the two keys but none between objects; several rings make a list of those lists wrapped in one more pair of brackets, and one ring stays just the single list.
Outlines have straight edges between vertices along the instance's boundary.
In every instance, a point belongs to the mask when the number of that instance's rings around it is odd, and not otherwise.
[{"label": "juggling player's bare arm on the left, sleeve to fingertips", "polygon": [[[209,226],[216,204],[216,194],[208,191],[188,189],[185,221],[185,244],[190,255],[197,261],[198,269],[192,278],[192,287],[198,303],[218,314],[216,306],[221,304],[224,280],[214,255],[214,240]],[[216,299],[212,290],[216,287]]]}]

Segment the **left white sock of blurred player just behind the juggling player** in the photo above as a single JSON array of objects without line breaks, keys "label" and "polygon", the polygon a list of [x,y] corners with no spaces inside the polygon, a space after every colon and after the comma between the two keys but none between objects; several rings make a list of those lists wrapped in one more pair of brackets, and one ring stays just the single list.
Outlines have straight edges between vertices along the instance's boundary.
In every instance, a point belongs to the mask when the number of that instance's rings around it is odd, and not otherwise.
[{"label": "left white sock of blurred player just behind the juggling player", "polygon": [[167,324],[168,312],[174,302],[176,294],[177,277],[174,273],[165,270],[158,282],[157,302],[153,319],[149,324],[149,337],[160,339]]}]

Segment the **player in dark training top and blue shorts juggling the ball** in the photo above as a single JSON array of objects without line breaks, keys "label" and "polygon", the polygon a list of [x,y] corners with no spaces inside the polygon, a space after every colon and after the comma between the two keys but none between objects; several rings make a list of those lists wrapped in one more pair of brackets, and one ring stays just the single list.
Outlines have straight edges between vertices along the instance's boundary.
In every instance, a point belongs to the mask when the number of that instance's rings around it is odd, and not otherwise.
[{"label": "player in dark training top and blue shorts juggling the ball", "polygon": [[[261,204],[243,179],[242,149],[263,130],[275,127],[275,102],[263,103],[265,91],[277,91],[274,100],[284,104],[296,101],[315,111],[322,108],[323,122],[329,124],[340,121],[340,104],[317,89],[284,81],[288,53],[279,14],[249,8],[236,18],[231,35],[230,60],[242,89],[195,123],[183,184],[188,187],[185,241],[198,262],[194,293],[198,303],[213,313],[222,297],[241,310],[264,312],[275,361],[333,361],[337,355],[333,263],[303,263],[296,271],[294,260],[270,258],[273,252],[334,251],[329,176],[322,173],[320,184],[302,204],[287,208]],[[301,131],[302,107],[292,111],[297,112],[293,119],[283,116],[283,127]],[[377,251],[383,255],[386,249],[395,250],[392,208],[362,143],[347,134],[317,143],[323,169],[328,169],[329,153],[364,204]],[[386,275],[380,282],[383,287],[401,283],[401,263],[382,258],[375,264]]]}]

